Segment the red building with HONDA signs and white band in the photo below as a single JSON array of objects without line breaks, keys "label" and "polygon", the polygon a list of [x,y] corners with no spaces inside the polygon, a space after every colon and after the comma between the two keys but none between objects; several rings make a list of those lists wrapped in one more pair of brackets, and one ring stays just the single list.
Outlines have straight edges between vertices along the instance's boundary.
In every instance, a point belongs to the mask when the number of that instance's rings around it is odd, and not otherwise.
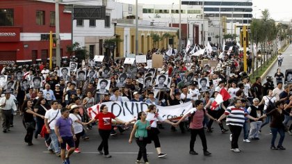
[{"label": "red building with HONDA signs and white band", "polygon": [[[60,56],[67,58],[72,44],[72,17],[59,5]],[[55,32],[55,3],[42,1],[0,1],[0,67],[7,63],[47,63],[49,31]],[[53,49],[53,56],[56,50]]]}]

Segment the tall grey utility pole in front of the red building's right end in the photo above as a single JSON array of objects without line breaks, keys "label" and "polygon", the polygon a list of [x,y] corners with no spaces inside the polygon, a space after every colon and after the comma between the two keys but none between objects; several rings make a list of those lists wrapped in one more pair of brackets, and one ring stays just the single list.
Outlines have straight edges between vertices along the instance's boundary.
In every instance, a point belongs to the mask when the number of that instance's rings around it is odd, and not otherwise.
[{"label": "tall grey utility pole in front of the red building's right end", "polygon": [[60,22],[59,22],[59,0],[55,3],[56,12],[56,65],[60,67]]}]

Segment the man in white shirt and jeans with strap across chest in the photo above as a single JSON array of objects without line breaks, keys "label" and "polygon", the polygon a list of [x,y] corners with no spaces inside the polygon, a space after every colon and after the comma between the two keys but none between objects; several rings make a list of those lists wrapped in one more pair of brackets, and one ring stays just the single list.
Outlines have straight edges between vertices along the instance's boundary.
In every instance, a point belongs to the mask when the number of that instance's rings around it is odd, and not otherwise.
[{"label": "man in white shirt and jeans with strap across chest", "polygon": [[51,101],[51,109],[47,110],[44,115],[44,124],[47,128],[47,133],[51,138],[51,144],[48,147],[48,150],[51,153],[55,153],[56,156],[60,156],[60,148],[58,138],[55,133],[56,120],[61,117],[60,109],[58,109],[58,101]]}]

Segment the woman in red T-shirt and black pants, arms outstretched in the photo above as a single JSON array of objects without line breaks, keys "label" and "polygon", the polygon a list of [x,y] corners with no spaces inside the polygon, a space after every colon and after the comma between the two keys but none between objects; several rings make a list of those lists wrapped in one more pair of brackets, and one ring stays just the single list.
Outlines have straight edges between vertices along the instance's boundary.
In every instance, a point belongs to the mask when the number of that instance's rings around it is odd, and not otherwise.
[{"label": "woman in red T-shirt and black pants, arms outstretched", "polygon": [[[129,122],[124,122],[113,115],[113,113],[108,112],[108,107],[104,104],[100,106],[100,113],[95,115],[95,118],[90,120],[90,122],[86,123],[90,124],[91,122],[98,121],[98,131],[99,135],[102,137],[102,142],[97,148],[97,151],[99,151],[99,154],[103,154],[106,158],[111,158],[111,155],[108,153],[108,138],[111,133],[111,120],[115,120],[125,125],[129,124]],[[104,149],[104,152],[102,152],[102,149]]]}]

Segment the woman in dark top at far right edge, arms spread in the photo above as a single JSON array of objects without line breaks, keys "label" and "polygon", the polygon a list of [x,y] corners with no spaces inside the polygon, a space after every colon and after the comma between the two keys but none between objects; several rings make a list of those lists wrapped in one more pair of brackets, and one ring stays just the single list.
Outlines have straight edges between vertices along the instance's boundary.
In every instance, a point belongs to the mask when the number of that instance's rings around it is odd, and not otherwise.
[{"label": "woman in dark top at far right edge, arms spread", "polygon": [[[291,113],[284,110],[284,105],[282,101],[277,101],[275,103],[276,108],[265,115],[259,117],[259,119],[272,115],[272,121],[270,122],[270,131],[272,131],[272,140],[270,141],[270,149],[273,150],[285,150],[283,147],[283,141],[285,138],[285,129],[286,127],[282,123],[284,120],[284,115],[292,116]],[[277,133],[279,133],[279,142],[277,148],[275,147],[275,140],[277,138]]]}]

